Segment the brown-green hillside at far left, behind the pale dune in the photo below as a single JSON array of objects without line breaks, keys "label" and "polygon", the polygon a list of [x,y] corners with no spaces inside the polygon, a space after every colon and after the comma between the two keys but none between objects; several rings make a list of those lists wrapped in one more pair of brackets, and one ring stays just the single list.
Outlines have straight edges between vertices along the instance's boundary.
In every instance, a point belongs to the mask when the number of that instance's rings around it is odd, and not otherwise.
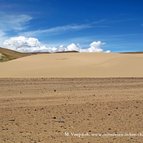
[{"label": "brown-green hillside at far left, behind the pale dune", "polygon": [[0,47],[0,62],[9,61],[31,55],[30,53],[20,53],[10,49]]}]

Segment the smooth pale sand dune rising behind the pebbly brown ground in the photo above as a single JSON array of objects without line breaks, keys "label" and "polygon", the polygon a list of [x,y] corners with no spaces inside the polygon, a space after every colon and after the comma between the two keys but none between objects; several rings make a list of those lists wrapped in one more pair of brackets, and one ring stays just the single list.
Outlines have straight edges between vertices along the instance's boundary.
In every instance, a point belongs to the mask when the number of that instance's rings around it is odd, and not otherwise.
[{"label": "smooth pale sand dune rising behind the pebbly brown ground", "polygon": [[0,63],[0,77],[142,77],[143,54],[58,53]]}]

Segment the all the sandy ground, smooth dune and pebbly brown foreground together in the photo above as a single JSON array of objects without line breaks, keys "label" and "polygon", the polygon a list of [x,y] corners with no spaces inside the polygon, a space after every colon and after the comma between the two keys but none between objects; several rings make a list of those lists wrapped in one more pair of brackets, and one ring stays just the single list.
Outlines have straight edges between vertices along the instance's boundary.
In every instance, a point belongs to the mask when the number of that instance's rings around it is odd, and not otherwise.
[{"label": "all the sandy ground, smooth dune and pebbly brown foreground together", "polygon": [[0,63],[0,143],[142,143],[143,54],[37,54]]}]

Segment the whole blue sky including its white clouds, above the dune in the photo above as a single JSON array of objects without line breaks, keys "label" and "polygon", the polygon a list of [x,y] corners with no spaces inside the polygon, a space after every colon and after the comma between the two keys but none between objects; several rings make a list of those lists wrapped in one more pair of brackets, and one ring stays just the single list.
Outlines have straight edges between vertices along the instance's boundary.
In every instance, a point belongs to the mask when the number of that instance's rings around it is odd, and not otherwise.
[{"label": "whole blue sky including its white clouds, above the dune", "polygon": [[0,46],[143,51],[143,0],[0,0]]}]

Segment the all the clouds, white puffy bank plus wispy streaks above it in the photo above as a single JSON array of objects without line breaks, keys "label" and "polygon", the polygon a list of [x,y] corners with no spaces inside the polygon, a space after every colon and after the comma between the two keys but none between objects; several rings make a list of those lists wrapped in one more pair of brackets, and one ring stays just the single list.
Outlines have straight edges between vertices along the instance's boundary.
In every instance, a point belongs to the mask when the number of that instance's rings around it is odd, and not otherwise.
[{"label": "all the clouds, white puffy bank plus wispy streaks above it", "polygon": [[[51,27],[48,29],[38,29],[31,31],[29,23],[33,17],[26,14],[8,14],[0,12],[0,47],[9,48],[19,52],[110,52],[104,51],[101,41],[93,41],[86,48],[79,44],[71,43],[69,45],[49,46],[40,42],[37,38],[43,35],[60,35],[70,31],[80,31],[95,26],[95,23],[69,24],[63,26]],[[23,35],[13,37],[13,35]],[[11,37],[11,38],[10,38]],[[77,40],[78,41],[78,40]]]}]

